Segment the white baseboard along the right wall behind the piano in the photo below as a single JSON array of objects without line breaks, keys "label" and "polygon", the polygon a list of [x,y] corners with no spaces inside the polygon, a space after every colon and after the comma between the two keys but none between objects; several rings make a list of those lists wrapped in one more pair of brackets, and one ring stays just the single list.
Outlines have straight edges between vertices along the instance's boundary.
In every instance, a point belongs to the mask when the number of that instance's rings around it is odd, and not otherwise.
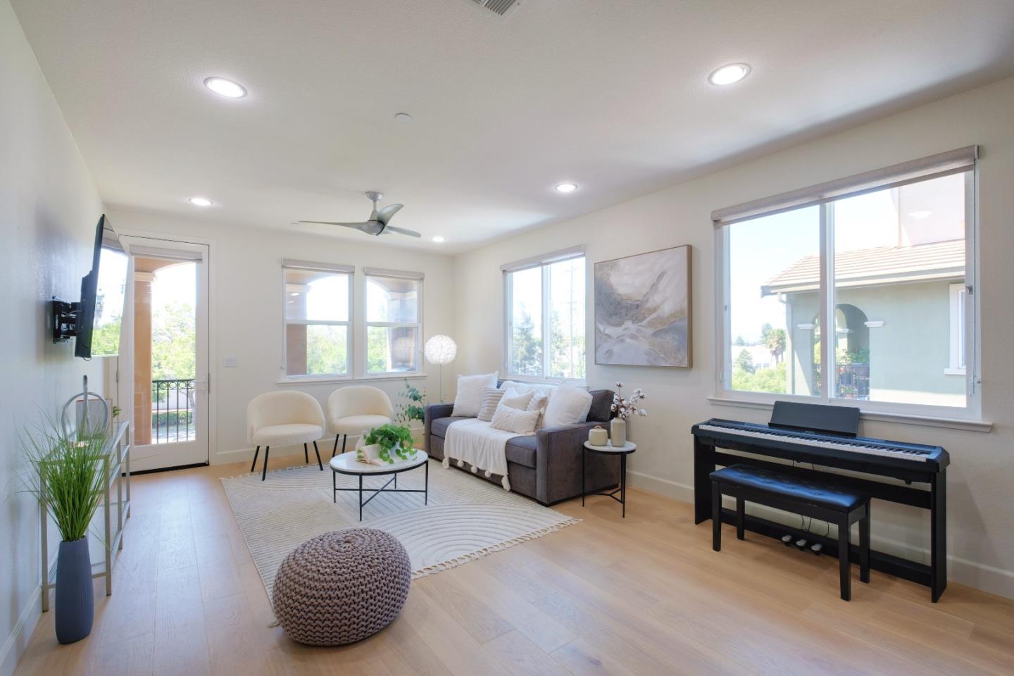
[{"label": "white baseboard along the right wall behind the piano", "polygon": [[[636,489],[672,498],[683,503],[694,502],[694,486],[692,485],[633,470],[629,470],[628,475],[630,476],[630,485]],[[787,526],[794,525],[791,519],[795,518],[797,521],[799,519],[799,517],[790,516],[787,512],[779,512],[762,507],[751,508],[750,512],[772,521],[785,523]],[[881,546],[877,548],[887,553],[904,556],[913,560],[929,560],[930,557],[930,550],[925,547],[918,547],[907,542],[901,542],[900,540],[877,537],[875,535],[871,540],[879,543]],[[1001,568],[968,560],[954,554],[947,554],[947,579],[967,585],[968,587],[974,587],[990,594],[1014,599],[1014,571],[1005,571]]]}]

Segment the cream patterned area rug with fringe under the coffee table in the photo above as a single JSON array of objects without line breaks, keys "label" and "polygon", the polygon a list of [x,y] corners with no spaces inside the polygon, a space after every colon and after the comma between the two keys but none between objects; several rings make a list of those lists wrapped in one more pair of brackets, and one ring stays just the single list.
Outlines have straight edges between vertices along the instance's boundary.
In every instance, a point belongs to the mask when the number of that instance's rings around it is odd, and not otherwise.
[{"label": "cream patterned area rug with fringe under the coffee table", "polygon": [[[397,476],[400,489],[422,489],[425,469]],[[389,476],[364,478],[379,487]],[[271,597],[282,559],[311,537],[343,528],[377,528],[401,540],[412,560],[413,578],[443,571],[524,540],[578,523],[556,510],[497,484],[430,460],[429,505],[421,493],[382,493],[363,508],[358,494],[339,492],[332,502],[332,471],[315,464],[223,478],[254,562]],[[338,475],[339,487],[357,487],[355,476]],[[393,486],[388,486],[393,487]]]}]

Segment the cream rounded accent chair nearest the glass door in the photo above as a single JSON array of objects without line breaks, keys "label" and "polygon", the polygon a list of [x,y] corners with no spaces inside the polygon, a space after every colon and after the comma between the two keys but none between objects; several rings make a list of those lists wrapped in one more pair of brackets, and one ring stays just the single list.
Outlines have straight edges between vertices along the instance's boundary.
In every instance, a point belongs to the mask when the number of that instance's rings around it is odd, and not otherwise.
[{"label": "cream rounded accent chair nearest the glass door", "polygon": [[324,420],[320,402],[307,394],[295,390],[266,392],[254,397],[246,406],[246,442],[255,444],[254,462],[250,471],[257,467],[257,456],[264,446],[264,469],[261,480],[268,475],[268,453],[272,446],[303,445],[303,457],[310,461],[306,444],[313,443],[317,455],[317,465],[323,471],[320,451],[316,440],[323,437]]}]

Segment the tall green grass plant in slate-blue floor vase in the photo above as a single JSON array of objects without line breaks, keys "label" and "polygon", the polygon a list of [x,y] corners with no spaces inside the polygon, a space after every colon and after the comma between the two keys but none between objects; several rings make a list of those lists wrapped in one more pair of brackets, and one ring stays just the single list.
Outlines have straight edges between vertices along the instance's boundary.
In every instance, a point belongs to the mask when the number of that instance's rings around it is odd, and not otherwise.
[{"label": "tall green grass plant in slate-blue floor vase", "polygon": [[88,526],[105,495],[105,436],[70,436],[49,421],[26,432],[24,439],[34,470],[28,492],[46,504],[62,540],[57,555],[57,641],[72,644],[91,633],[94,619]]}]

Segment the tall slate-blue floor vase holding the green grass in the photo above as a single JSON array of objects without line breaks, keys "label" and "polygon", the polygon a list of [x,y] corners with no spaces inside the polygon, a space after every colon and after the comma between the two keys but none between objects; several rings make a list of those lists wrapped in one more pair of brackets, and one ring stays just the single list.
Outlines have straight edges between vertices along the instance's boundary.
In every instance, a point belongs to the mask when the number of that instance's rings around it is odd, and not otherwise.
[{"label": "tall slate-blue floor vase holding the green grass", "polygon": [[91,633],[95,599],[88,538],[61,542],[57,554],[57,641],[72,644]]}]

